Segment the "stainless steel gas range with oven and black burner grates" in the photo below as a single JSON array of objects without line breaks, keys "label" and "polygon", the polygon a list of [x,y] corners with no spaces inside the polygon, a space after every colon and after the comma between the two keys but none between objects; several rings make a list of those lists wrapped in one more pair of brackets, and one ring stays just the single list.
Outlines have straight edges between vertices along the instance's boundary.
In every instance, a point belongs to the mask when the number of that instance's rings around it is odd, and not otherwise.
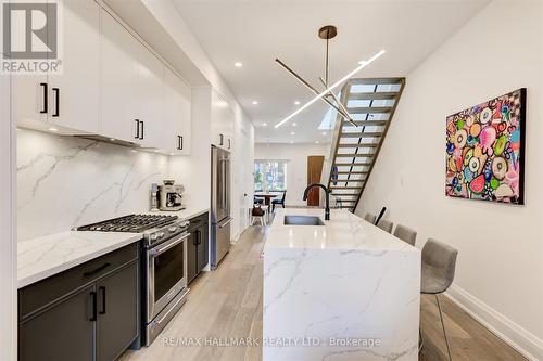
[{"label": "stainless steel gas range with oven and black burner grates", "polygon": [[187,300],[189,221],[177,216],[129,215],[77,228],[77,231],[142,233],[142,333],[146,346]]}]

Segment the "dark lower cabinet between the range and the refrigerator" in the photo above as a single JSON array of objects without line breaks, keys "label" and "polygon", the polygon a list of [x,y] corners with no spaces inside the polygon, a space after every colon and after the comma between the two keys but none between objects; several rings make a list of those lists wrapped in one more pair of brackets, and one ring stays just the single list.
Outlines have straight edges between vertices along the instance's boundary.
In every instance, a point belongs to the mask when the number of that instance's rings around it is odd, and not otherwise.
[{"label": "dark lower cabinet between the range and the refrigerator", "polygon": [[187,279],[190,283],[207,265],[210,256],[209,214],[190,220],[187,244]]}]

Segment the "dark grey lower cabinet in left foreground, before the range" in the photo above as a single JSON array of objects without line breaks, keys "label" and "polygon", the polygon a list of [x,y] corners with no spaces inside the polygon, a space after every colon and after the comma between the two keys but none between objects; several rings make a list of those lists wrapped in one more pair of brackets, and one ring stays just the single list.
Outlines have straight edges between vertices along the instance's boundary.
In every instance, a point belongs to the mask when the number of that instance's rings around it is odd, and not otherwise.
[{"label": "dark grey lower cabinet in left foreground, before the range", "polygon": [[18,291],[18,360],[112,361],[139,337],[139,246]]}]

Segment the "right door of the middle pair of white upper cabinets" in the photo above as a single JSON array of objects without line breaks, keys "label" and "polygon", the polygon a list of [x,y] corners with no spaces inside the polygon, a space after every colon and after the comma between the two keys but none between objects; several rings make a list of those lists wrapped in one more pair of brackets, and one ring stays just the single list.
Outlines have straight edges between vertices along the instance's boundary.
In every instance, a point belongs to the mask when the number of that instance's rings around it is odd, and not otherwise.
[{"label": "right door of the middle pair of white upper cabinets", "polygon": [[138,50],[138,119],[142,121],[142,145],[162,147],[165,141],[164,64],[142,43]]}]

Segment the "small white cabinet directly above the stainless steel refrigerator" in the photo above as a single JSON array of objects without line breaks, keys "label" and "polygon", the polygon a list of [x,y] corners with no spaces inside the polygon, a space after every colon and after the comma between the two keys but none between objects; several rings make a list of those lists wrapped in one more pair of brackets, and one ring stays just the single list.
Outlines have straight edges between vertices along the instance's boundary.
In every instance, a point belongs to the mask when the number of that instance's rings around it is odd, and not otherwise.
[{"label": "small white cabinet directly above the stainless steel refrigerator", "polygon": [[233,150],[233,111],[216,92],[212,91],[211,101],[211,143],[228,150]]}]

